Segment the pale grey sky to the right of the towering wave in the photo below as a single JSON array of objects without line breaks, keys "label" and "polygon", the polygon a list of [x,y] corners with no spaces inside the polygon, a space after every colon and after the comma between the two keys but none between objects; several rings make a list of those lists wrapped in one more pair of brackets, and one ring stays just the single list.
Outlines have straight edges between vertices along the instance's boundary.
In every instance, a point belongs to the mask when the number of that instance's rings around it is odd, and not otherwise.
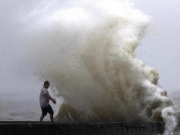
[{"label": "pale grey sky to the right of the towering wave", "polygon": [[180,1],[133,0],[135,7],[152,18],[137,56],[160,74],[161,87],[180,90]]}]

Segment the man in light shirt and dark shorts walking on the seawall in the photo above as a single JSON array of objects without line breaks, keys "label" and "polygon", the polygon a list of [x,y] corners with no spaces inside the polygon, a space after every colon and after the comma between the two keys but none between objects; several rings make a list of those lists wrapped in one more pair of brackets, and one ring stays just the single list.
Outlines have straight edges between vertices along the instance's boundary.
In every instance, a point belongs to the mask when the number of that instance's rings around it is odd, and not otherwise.
[{"label": "man in light shirt and dark shorts walking on the seawall", "polygon": [[44,82],[44,86],[41,89],[40,95],[39,95],[39,101],[40,101],[40,106],[41,106],[41,110],[42,110],[42,115],[40,117],[40,122],[42,122],[43,118],[46,116],[47,113],[50,114],[50,119],[51,122],[54,123],[54,118],[53,118],[53,114],[54,111],[52,109],[52,107],[49,104],[49,100],[51,100],[54,104],[56,104],[56,100],[53,99],[48,92],[48,88],[50,86],[49,81],[45,81]]}]

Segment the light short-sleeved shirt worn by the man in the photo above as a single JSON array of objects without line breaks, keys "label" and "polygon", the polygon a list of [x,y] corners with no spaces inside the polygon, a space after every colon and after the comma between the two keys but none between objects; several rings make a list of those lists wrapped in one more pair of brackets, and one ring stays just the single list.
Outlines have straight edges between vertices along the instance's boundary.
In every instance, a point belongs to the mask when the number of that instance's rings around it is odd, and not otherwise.
[{"label": "light short-sleeved shirt worn by the man", "polygon": [[49,105],[49,99],[45,96],[45,94],[49,94],[46,88],[42,88],[39,95],[39,102],[41,107],[46,107]]}]

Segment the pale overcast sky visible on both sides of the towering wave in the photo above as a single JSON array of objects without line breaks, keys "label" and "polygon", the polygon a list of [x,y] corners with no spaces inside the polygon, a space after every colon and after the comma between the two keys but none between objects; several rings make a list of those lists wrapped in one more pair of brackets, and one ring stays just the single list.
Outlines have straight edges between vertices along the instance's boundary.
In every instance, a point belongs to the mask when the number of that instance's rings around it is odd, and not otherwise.
[{"label": "pale overcast sky visible on both sides of the towering wave", "polygon": [[[42,0],[1,0],[0,81],[3,84],[1,89],[21,91],[28,89],[29,83],[36,84],[37,89],[41,86],[37,82],[38,79],[30,77],[27,72],[27,63],[24,58],[27,48],[24,44],[20,44],[19,40],[23,39],[18,38],[18,31],[23,27],[16,22],[25,18],[26,13],[34,10],[40,1]],[[61,1],[64,2],[64,0]],[[159,72],[159,82],[162,88],[168,92],[178,92],[180,90],[180,1],[132,1],[136,8],[152,18],[147,34],[136,51],[137,57]],[[47,3],[42,2],[41,4],[46,5]],[[23,60],[24,63],[22,63]],[[16,67],[20,69],[16,71]]]}]

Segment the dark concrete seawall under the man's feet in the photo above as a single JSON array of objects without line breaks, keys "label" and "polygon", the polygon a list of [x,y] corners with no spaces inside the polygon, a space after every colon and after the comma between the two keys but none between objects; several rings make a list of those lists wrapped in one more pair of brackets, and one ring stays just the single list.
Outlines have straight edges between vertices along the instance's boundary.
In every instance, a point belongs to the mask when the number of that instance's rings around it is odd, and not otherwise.
[{"label": "dark concrete seawall under the man's feet", "polygon": [[160,135],[162,122],[0,122],[0,135]]}]

